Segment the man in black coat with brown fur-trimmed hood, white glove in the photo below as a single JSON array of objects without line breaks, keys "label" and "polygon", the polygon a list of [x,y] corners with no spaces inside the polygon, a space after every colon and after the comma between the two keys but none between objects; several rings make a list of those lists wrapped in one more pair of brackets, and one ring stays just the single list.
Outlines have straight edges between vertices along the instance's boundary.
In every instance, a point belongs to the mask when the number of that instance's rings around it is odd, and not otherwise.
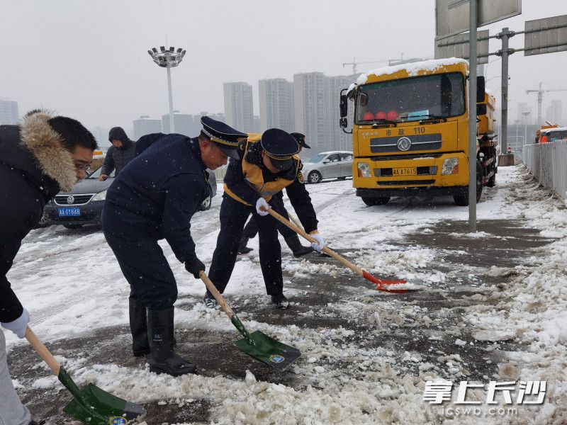
[{"label": "man in black coat with brown fur-trimmed hood, white glove", "polygon": [[[19,338],[30,319],[6,274],[21,241],[40,221],[43,207],[59,191],[84,179],[96,140],[79,121],[31,111],[21,125],[0,125],[0,325]],[[8,371],[0,332],[0,424],[35,424],[21,404]]]}]

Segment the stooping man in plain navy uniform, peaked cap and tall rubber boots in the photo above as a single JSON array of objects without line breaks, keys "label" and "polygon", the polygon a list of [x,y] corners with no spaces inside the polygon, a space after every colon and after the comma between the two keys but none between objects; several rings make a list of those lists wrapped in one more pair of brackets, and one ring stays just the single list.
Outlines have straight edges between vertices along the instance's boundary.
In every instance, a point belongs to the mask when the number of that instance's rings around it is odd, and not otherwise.
[{"label": "stooping man in plain navy uniform, peaked cap and tall rubber boots", "polygon": [[208,196],[208,173],[238,157],[246,137],[224,123],[201,118],[201,135],[149,137],[108,188],[102,214],[104,235],[130,283],[130,329],[134,356],[150,353],[150,370],[169,375],[194,373],[174,353],[177,285],[157,241],[166,239],[176,258],[195,278],[205,265],[195,254],[191,217]]}]

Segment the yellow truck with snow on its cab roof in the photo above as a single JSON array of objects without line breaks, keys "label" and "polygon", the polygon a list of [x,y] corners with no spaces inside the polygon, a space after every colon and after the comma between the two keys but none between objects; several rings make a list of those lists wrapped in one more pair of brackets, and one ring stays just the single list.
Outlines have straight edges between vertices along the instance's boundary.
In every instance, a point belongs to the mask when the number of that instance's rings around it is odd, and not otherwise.
[{"label": "yellow truck with snow on its cab roof", "polygon": [[[343,130],[348,101],[354,101],[353,186],[366,205],[392,196],[447,195],[468,205],[467,79],[465,60],[428,60],[362,74],[341,92]],[[485,94],[484,77],[477,86],[478,202],[483,186],[495,183],[496,142],[494,98]]]}]

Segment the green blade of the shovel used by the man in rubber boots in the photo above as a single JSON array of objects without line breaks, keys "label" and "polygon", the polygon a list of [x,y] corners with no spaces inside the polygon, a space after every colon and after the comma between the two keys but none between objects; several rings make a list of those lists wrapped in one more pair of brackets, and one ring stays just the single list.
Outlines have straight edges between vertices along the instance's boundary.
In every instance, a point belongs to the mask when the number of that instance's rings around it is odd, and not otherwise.
[{"label": "green blade of the shovel used by the man in rubber boots", "polygon": [[297,348],[282,344],[261,331],[252,332],[250,339],[254,344],[242,338],[235,342],[236,348],[277,370],[286,370],[293,361],[301,357]]}]

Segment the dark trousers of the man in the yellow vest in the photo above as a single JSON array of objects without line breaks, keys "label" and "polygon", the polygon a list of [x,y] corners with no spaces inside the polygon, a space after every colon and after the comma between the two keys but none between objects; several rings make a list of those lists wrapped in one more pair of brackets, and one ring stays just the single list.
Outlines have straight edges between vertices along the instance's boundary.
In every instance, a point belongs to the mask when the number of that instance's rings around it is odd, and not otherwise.
[{"label": "dark trousers of the man in the yellow vest", "polygon": [[255,208],[244,205],[226,194],[223,195],[223,203],[220,204],[220,233],[213,253],[213,262],[210,264],[209,278],[218,291],[223,293],[235,268],[238,243],[250,213],[252,220],[258,225],[260,266],[266,293],[279,295],[283,293],[283,277],[277,220],[271,215],[260,216]]}]

